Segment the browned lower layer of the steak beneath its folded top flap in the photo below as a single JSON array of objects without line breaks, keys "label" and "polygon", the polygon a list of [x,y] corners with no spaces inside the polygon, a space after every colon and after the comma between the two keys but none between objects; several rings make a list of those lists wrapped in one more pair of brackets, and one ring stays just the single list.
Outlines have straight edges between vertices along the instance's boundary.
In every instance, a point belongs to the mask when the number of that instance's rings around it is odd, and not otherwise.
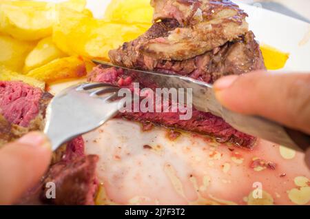
[{"label": "browned lower layer of the steak beneath its folded top flap", "polygon": [[[172,21],[166,22],[171,25]],[[161,27],[162,33],[163,30],[170,27],[165,25],[166,22],[156,23],[156,26],[152,28]],[[155,31],[152,28],[149,32],[154,35]],[[157,60],[136,52],[136,45],[138,45],[139,41],[148,39],[149,32],[146,32],[135,41],[124,43],[123,47],[118,48],[118,50],[110,51],[111,61],[116,65],[130,68],[181,74],[207,83],[213,83],[221,76],[229,74],[243,74],[265,69],[262,53],[251,31],[232,42],[225,43],[219,48],[184,61]]]}]

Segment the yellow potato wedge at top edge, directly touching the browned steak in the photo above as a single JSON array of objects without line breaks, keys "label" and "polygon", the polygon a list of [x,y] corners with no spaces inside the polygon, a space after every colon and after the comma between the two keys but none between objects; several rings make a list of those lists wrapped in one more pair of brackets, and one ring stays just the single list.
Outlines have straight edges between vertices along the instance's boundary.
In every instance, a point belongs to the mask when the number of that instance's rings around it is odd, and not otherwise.
[{"label": "yellow potato wedge at top edge, directly touching the browned steak", "polygon": [[150,0],[112,0],[105,10],[105,19],[120,23],[152,23]]}]

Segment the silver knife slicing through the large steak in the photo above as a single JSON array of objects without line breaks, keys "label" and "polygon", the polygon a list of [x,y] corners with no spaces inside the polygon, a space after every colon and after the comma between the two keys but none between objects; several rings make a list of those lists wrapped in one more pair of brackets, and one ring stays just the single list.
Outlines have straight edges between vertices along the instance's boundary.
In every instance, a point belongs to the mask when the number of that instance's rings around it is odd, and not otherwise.
[{"label": "silver knife slicing through the large steak", "polygon": [[176,74],[161,74],[158,72],[133,70],[98,60],[93,60],[93,62],[107,67],[122,68],[123,70],[134,72],[135,75],[143,78],[147,77],[147,79],[156,83],[158,87],[165,87],[168,89],[192,88],[192,101],[197,110],[220,116],[229,123],[229,125],[245,134],[263,138],[300,152],[306,150],[310,146],[310,136],[307,134],[289,129],[267,118],[248,116],[227,110],[217,101],[213,87],[208,83]]}]

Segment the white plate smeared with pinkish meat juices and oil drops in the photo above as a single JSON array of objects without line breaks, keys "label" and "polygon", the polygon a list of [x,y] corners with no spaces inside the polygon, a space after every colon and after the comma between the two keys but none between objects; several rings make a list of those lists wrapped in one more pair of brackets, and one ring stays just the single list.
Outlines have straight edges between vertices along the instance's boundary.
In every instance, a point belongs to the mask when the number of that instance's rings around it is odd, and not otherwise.
[{"label": "white plate smeared with pinkish meat juices and oil drops", "polygon": [[[92,0],[87,7],[96,17],[102,17],[108,2]],[[268,10],[240,6],[248,12],[250,29],[258,41],[291,54],[285,70],[310,71],[309,24]],[[52,87],[52,92],[60,87]],[[97,170],[102,185],[97,203],[245,205],[253,200],[251,191],[259,187],[263,196],[256,203],[307,204],[304,200],[309,194],[292,190],[297,187],[294,178],[310,178],[302,154],[287,152],[265,140],[258,140],[252,152],[236,147],[231,152],[227,146],[210,143],[203,136],[182,134],[168,140],[166,134],[167,129],[160,127],[142,132],[138,123],[121,119],[112,119],[85,134],[86,152],[100,156]],[[255,157],[277,163],[276,169],[250,168]],[[297,196],[289,196],[294,192]],[[305,203],[296,199],[304,196]]]}]

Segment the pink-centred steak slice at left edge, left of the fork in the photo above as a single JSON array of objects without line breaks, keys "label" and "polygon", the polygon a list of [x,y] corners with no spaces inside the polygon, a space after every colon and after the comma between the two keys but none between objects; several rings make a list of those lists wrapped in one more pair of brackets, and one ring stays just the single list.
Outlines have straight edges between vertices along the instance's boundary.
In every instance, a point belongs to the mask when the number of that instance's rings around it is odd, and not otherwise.
[{"label": "pink-centred steak slice at left edge, left of the fork", "polygon": [[24,134],[43,130],[52,94],[16,81],[0,81],[0,147]]}]

